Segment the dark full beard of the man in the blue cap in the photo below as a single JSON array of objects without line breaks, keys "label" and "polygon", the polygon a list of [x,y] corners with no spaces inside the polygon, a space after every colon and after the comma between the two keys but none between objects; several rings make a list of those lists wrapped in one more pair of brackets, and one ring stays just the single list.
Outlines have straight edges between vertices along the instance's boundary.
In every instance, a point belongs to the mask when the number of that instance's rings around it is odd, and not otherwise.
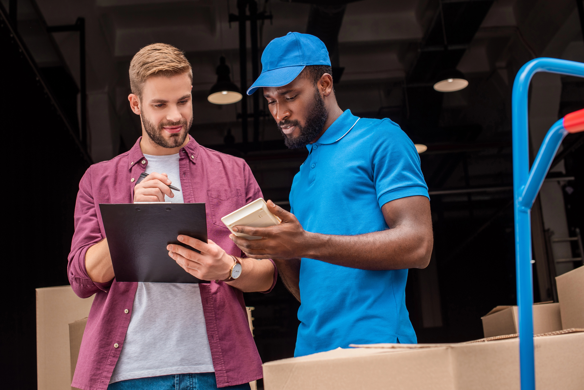
[{"label": "dark full beard of the man in the blue cap", "polygon": [[[328,111],[326,111],[325,101],[322,99],[318,88],[315,88],[314,105],[306,117],[306,123],[304,126],[302,126],[296,119],[284,120],[276,124],[280,133],[284,136],[284,144],[286,144],[288,149],[298,149],[305,147],[307,144],[310,144],[314,138],[317,138],[318,134],[321,133],[322,128],[325,126],[327,119]],[[298,127],[300,135],[297,137],[290,137],[290,135],[284,134],[282,126],[286,126],[287,124]]]}]

